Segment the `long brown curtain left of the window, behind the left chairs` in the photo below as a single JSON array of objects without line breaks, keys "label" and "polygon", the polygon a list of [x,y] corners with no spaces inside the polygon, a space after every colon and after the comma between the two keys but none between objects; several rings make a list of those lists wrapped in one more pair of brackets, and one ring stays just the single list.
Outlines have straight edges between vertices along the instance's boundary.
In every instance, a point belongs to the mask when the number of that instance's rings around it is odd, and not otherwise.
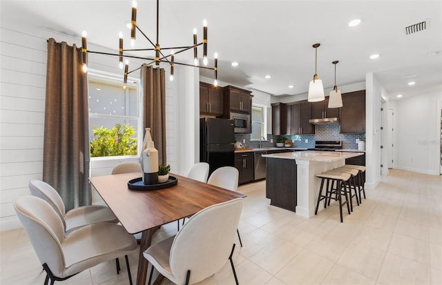
[{"label": "long brown curtain left of the window, behind the left chairs", "polygon": [[90,205],[87,76],[81,50],[48,39],[43,180],[66,210]]}]

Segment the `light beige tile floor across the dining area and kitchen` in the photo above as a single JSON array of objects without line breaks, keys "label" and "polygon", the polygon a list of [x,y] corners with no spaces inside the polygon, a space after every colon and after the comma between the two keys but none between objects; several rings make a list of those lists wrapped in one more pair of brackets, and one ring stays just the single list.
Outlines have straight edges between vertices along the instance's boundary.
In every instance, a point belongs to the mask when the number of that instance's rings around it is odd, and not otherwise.
[{"label": "light beige tile floor across the dining area and kitchen", "polygon": [[[269,206],[265,181],[247,194],[234,262],[241,285],[442,284],[442,179],[390,170],[352,215],[336,205],[311,219]],[[155,240],[175,234],[166,225]],[[45,274],[22,229],[0,233],[0,284],[43,284]],[[137,255],[130,258],[135,280]],[[56,284],[128,284],[126,266],[105,262]],[[171,284],[165,279],[162,284]],[[227,263],[200,284],[235,284]]]}]

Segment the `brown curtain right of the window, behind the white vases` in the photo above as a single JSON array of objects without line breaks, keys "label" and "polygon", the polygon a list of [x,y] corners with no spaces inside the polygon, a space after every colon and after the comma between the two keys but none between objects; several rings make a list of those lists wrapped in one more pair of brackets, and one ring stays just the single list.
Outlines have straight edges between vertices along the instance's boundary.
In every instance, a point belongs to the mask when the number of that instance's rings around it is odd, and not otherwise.
[{"label": "brown curtain right of the window, behind the white vases", "polygon": [[[166,80],[164,68],[142,65],[141,88],[144,99],[144,128],[151,128],[155,148],[158,150],[158,163],[166,160]],[[144,131],[143,128],[143,131]]]}]

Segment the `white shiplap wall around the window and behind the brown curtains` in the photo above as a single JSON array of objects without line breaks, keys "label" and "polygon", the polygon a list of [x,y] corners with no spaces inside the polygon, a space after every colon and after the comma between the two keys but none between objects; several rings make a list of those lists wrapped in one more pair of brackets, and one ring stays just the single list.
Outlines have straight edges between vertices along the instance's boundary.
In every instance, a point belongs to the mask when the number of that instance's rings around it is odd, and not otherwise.
[{"label": "white shiplap wall around the window and behind the brown curtains", "polygon": [[[53,37],[57,42],[66,41],[70,46],[81,43],[79,38],[21,23],[1,21],[0,29],[0,230],[8,230],[21,226],[12,206],[13,200],[30,193],[30,179],[42,178],[46,41]],[[107,51],[93,43],[88,43],[88,48]],[[131,66],[141,64],[141,61],[131,61]],[[122,75],[115,57],[89,56],[88,67]],[[166,72],[169,72],[167,68]],[[186,72],[186,68],[175,66],[175,77]],[[133,72],[131,76],[139,78],[139,73]],[[189,152],[194,153],[193,149],[180,153],[179,142],[195,141],[194,132],[180,132],[178,139],[178,129],[186,128],[180,121],[195,117],[193,110],[178,108],[178,97],[198,101],[199,89],[192,87],[198,86],[198,76],[195,72],[187,76],[187,81],[182,83],[186,88],[182,88],[176,81],[166,80],[167,162],[177,174],[186,173],[185,167],[180,167],[180,159],[186,160],[184,165],[194,162],[189,161]],[[169,79],[167,74],[166,79]],[[128,161],[137,161],[137,158],[93,160],[90,165],[91,176],[110,175],[113,166]],[[95,191],[93,204],[102,204],[102,199]]]}]

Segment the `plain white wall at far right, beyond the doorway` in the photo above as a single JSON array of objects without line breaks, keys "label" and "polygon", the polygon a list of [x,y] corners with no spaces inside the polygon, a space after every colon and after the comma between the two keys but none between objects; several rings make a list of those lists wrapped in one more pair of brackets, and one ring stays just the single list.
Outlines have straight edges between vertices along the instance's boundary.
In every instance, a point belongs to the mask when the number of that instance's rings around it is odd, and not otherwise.
[{"label": "plain white wall at far right, beyond the doorway", "polygon": [[442,89],[400,100],[394,108],[395,168],[439,175]]}]

